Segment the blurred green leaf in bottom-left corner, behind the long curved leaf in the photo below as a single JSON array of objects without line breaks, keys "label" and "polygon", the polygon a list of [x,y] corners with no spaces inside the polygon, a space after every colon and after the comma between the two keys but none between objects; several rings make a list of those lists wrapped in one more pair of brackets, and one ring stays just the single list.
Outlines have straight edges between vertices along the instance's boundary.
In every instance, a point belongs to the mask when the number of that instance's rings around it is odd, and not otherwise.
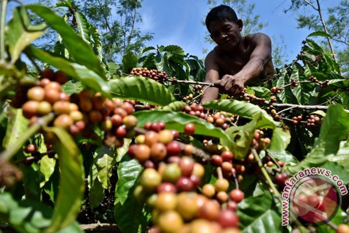
[{"label": "blurred green leaf in bottom-left corner, behind the long curved leaf", "polygon": [[[42,202],[31,200],[16,201],[8,192],[0,194],[1,220],[6,221],[17,232],[44,232],[51,224],[52,209]],[[76,221],[63,228],[59,233],[82,233]]]}]

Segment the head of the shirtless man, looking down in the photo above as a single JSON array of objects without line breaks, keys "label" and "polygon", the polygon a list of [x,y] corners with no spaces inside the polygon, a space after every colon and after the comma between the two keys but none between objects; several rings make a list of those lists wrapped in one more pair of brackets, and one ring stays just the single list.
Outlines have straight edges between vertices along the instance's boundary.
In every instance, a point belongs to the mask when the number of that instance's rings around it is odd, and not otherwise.
[{"label": "head of the shirtless man, looking down", "polygon": [[229,6],[220,5],[211,9],[205,23],[211,38],[223,50],[233,49],[242,40],[240,31],[243,23]]}]

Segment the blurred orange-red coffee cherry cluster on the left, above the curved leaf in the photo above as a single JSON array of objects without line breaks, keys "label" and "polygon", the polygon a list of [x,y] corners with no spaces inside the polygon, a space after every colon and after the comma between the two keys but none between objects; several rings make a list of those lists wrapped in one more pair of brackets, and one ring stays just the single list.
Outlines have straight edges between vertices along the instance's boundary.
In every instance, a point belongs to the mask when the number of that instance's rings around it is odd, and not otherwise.
[{"label": "blurred orange-red coffee cherry cluster on the left, above the curved leaf", "polygon": [[[73,136],[81,133],[83,137],[89,138],[94,133],[94,124],[98,124],[106,132],[107,144],[122,146],[123,138],[128,132],[132,132],[137,123],[137,118],[131,115],[135,102],[123,102],[116,98],[109,100],[101,93],[89,90],[69,96],[62,91],[61,86],[66,80],[67,76],[63,72],[46,69],[39,85],[25,92],[25,101],[19,107],[22,107],[23,116],[30,119],[29,124],[34,124],[38,117],[53,112],[55,118],[52,125],[66,129]],[[14,100],[16,99],[17,94]],[[55,140],[49,133],[45,134],[45,139],[47,142]]]}]

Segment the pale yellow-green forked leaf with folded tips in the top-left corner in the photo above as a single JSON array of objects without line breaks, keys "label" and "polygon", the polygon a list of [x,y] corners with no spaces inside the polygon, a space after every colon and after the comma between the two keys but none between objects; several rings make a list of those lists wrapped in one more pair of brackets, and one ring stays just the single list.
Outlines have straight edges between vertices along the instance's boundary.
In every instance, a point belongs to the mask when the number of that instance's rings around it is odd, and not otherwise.
[{"label": "pale yellow-green forked leaf with folded tips in the top-left corner", "polygon": [[[35,30],[25,25],[24,20],[27,20],[27,12],[23,7],[13,9],[13,18],[9,21],[6,34],[6,42],[9,46],[11,63],[14,64],[25,47],[32,41],[39,38],[46,31],[46,27],[40,27]],[[28,22],[29,23],[29,22]]]}]

